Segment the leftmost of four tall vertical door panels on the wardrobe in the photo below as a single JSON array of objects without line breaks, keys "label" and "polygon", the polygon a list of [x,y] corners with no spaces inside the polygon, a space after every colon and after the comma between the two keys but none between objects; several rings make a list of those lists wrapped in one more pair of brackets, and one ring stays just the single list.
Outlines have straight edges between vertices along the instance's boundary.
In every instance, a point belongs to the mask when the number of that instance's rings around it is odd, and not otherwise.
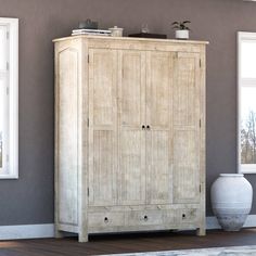
[{"label": "leftmost of four tall vertical door panels on the wardrobe", "polygon": [[117,202],[117,51],[89,50],[89,205]]}]

